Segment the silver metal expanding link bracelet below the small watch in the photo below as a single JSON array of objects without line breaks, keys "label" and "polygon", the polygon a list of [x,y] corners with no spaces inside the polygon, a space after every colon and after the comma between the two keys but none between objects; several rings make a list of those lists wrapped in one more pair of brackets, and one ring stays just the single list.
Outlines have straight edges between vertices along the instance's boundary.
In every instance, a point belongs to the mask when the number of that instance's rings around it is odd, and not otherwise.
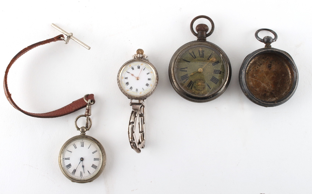
[{"label": "silver metal expanding link bracelet below the small watch", "polygon": [[[129,142],[137,153],[141,153],[141,148],[144,148],[145,143],[145,104],[144,100],[139,100],[139,102],[132,102],[130,100],[129,105],[132,107],[132,112],[130,114],[129,127],[128,127],[128,135]],[[139,141],[135,136],[137,119],[139,119]]]}]

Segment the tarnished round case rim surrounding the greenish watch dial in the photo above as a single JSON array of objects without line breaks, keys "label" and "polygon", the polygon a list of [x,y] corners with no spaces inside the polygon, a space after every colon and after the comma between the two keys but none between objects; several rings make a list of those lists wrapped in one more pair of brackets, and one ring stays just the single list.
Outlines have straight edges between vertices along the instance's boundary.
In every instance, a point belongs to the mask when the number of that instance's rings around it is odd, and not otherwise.
[{"label": "tarnished round case rim surrounding the greenish watch dial", "polygon": [[[178,59],[180,58],[180,55],[182,55],[183,51],[189,49],[192,46],[201,46],[201,45],[209,46],[209,47],[217,50],[222,55],[222,60],[224,62],[224,71],[225,71],[224,72],[225,80],[223,81],[223,84],[220,85],[219,88],[217,90],[215,90],[215,92],[207,94],[205,96],[191,95],[191,94],[187,93],[178,84],[178,79],[175,76],[176,75],[175,67],[176,67]],[[225,54],[225,52],[219,46],[217,46],[211,42],[208,42],[208,41],[192,41],[192,42],[188,42],[188,43],[184,44],[173,54],[173,56],[170,60],[170,64],[169,64],[169,79],[170,79],[170,83],[171,83],[173,89],[181,97],[183,97],[184,99],[187,99],[189,101],[192,101],[192,102],[198,102],[198,103],[208,102],[208,101],[216,99],[217,97],[222,95],[223,92],[227,89],[227,86],[230,84],[231,75],[232,75],[232,69],[231,69],[230,60],[227,57],[227,55]]]}]

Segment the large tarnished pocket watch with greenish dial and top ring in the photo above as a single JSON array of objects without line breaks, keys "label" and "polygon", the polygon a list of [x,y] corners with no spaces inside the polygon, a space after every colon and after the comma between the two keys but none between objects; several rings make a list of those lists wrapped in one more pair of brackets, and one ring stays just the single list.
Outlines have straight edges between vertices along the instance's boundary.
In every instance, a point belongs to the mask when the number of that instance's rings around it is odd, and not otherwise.
[{"label": "large tarnished pocket watch with greenish dial and top ring", "polygon": [[[196,32],[194,22],[205,18],[211,22],[208,32],[206,24],[198,24]],[[231,80],[231,64],[225,52],[217,45],[206,41],[214,30],[210,17],[197,16],[191,22],[191,32],[197,36],[181,46],[172,56],[169,65],[169,79],[174,90],[192,102],[208,102],[219,97]]]}]

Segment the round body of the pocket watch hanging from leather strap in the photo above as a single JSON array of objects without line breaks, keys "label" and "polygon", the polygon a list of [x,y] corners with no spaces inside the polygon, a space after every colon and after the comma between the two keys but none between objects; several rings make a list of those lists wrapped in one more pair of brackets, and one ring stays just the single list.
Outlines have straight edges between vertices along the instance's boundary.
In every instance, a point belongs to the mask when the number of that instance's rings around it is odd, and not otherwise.
[{"label": "round body of the pocket watch hanging from leather strap", "polygon": [[59,164],[63,174],[73,182],[91,182],[105,167],[103,146],[94,138],[79,135],[69,139],[62,147]]}]

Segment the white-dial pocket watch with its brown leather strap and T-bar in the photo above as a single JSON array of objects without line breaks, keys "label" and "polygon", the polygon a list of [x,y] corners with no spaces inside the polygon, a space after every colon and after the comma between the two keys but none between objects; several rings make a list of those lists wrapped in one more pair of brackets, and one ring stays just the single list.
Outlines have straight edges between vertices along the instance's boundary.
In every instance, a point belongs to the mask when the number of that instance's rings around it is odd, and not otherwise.
[{"label": "white-dial pocket watch with its brown leather strap and T-bar", "polygon": [[[4,93],[7,97],[7,100],[15,109],[21,111],[26,115],[37,118],[61,117],[86,107],[85,114],[78,116],[75,120],[76,128],[81,132],[80,135],[70,138],[68,141],[66,141],[66,143],[61,148],[58,161],[61,171],[72,182],[91,182],[95,178],[100,176],[101,172],[103,172],[104,170],[106,163],[105,150],[101,143],[95,138],[85,135],[85,132],[88,131],[92,126],[90,115],[91,105],[95,103],[94,95],[87,94],[83,98],[73,101],[71,104],[47,113],[30,113],[17,106],[17,104],[13,101],[12,95],[8,89],[7,75],[13,63],[20,56],[32,50],[33,48],[36,48],[37,46],[45,45],[56,41],[65,41],[65,44],[67,44],[69,40],[72,39],[80,45],[84,46],[86,49],[90,50],[90,46],[86,45],[85,43],[74,37],[73,33],[68,33],[60,27],[56,26],[55,24],[51,24],[51,26],[67,35],[67,38],[65,39],[64,35],[60,34],[53,38],[27,46],[22,51],[18,52],[17,55],[12,58],[5,71],[3,80]],[[86,77],[88,77],[88,75]],[[79,128],[77,126],[77,120],[80,117],[86,117],[85,127],[82,126]]]}]

